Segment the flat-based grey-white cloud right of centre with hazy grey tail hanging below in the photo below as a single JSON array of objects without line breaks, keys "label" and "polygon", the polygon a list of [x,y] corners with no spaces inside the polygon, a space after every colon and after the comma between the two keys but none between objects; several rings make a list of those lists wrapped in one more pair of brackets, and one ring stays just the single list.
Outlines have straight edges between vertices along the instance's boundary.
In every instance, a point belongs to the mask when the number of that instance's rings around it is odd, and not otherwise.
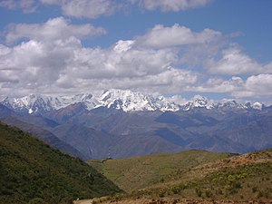
[{"label": "flat-based grey-white cloud right of centre with hazy grey tail hanging below", "polygon": [[152,49],[179,50],[180,64],[204,66],[228,44],[228,38],[218,31],[204,29],[194,32],[186,26],[155,25],[147,34],[136,37],[135,46]]}]

